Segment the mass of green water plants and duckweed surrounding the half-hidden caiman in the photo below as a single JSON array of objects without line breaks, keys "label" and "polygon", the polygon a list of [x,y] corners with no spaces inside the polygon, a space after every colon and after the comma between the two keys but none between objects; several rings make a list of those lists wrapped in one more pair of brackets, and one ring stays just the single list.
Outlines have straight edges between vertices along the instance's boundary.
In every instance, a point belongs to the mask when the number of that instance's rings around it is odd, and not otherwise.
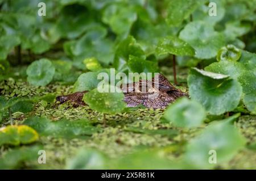
[{"label": "mass of green water plants and duckweed surrounding the half-hidden caiman", "polygon": [[0,169],[256,169],[255,4],[0,0]]}]

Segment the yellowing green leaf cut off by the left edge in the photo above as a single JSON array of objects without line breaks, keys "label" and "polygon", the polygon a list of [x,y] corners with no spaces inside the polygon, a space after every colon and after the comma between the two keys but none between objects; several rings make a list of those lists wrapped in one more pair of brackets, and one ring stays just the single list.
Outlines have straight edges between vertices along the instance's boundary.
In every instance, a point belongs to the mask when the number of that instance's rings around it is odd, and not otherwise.
[{"label": "yellowing green leaf cut off by the left edge", "polygon": [[31,144],[38,138],[38,133],[27,125],[9,125],[0,129],[0,146]]}]

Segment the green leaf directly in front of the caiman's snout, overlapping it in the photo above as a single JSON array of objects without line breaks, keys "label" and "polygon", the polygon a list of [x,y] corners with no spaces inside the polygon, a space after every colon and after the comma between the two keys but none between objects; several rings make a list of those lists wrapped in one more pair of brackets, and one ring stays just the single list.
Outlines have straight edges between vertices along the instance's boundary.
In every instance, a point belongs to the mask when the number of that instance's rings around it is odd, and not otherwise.
[{"label": "green leaf directly in front of the caiman's snout, overlapping it", "polygon": [[[117,87],[110,86],[110,90],[116,90]],[[119,93],[120,92],[120,93]],[[126,103],[123,102],[123,93],[119,92],[99,92],[97,89],[86,93],[84,95],[84,102],[89,105],[93,110],[115,114],[121,112],[125,107]]]}]

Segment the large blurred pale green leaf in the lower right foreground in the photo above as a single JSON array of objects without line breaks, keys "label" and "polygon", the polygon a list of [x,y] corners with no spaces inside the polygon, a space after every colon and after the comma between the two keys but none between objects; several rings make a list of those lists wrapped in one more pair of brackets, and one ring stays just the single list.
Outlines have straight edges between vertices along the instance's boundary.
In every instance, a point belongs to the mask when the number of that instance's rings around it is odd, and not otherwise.
[{"label": "large blurred pale green leaf in the lower right foreground", "polygon": [[194,169],[210,169],[216,166],[209,162],[214,151],[216,163],[221,164],[232,159],[244,145],[245,138],[229,122],[213,123],[189,142],[184,159]]}]

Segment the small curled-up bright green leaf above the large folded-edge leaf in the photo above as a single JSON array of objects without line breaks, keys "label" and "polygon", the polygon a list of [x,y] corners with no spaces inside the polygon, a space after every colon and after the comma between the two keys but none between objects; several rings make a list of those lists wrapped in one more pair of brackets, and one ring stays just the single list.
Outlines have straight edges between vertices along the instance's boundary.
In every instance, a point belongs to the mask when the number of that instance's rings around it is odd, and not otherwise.
[{"label": "small curled-up bright green leaf above the large folded-edge leaf", "polygon": [[241,50],[234,45],[227,45],[218,50],[217,60],[218,61],[237,61],[241,57]]}]

